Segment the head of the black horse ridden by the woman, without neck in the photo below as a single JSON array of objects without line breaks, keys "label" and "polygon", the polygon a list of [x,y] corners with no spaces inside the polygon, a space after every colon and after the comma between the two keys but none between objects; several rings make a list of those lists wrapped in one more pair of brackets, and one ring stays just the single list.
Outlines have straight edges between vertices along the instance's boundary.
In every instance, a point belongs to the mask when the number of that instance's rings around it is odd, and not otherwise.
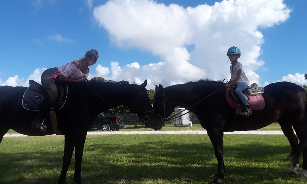
[{"label": "head of the black horse ridden by the woman, without neck", "polygon": [[162,128],[162,122],[158,121],[157,115],[153,110],[153,106],[150,103],[148,93],[146,90],[147,79],[138,85],[138,97],[135,102],[130,105],[130,111],[136,113],[138,117],[142,118],[146,127],[153,128],[154,130],[160,130]]}]

